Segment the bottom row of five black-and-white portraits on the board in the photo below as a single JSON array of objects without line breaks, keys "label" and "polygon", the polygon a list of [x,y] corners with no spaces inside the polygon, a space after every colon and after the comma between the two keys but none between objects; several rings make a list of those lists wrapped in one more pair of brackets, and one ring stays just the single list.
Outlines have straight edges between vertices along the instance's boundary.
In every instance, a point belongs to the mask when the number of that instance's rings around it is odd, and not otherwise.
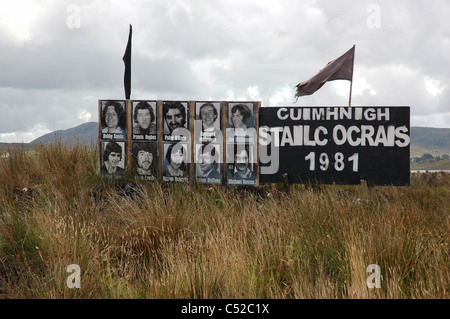
[{"label": "bottom row of five black-and-white portraits on the board", "polygon": [[[188,143],[163,144],[163,181],[187,182],[189,176]],[[125,142],[101,142],[101,173],[120,178],[125,174]],[[202,184],[222,184],[220,164],[221,145],[203,143],[195,145],[195,177]],[[250,144],[227,145],[228,184],[255,185],[254,147]],[[133,165],[142,180],[155,180],[158,143],[134,142]]]}]

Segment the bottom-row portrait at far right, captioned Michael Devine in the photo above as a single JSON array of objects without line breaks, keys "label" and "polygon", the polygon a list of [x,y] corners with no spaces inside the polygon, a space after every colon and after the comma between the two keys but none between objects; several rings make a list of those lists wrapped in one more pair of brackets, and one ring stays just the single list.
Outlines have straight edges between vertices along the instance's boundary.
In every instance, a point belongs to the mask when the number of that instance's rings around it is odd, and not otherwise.
[{"label": "bottom-row portrait at far right, captioned Michael Devine", "polygon": [[255,144],[227,144],[227,183],[255,185]]}]

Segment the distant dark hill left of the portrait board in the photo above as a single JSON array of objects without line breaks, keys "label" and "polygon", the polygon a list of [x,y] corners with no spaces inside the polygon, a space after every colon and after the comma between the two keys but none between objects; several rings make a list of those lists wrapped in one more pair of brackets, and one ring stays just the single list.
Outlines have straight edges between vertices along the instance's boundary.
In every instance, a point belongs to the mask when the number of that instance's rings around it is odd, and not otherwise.
[{"label": "distant dark hill left of the portrait board", "polygon": [[98,123],[88,122],[67,130],[58,130],[30,142],[30,144],[49,143],[61,141],[62,143],[73,145],[76,143],[82,145],[97,145]]}]

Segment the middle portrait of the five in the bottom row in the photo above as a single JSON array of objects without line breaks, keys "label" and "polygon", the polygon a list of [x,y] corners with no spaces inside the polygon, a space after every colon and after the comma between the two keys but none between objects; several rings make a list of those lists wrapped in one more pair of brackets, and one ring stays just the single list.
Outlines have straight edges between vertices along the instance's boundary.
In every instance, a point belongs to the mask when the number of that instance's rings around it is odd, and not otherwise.
[{"label": "middle portrait of the five in the bottom row", "polygon": [[187,143],[163,144],[163,182],[187,182],[190,155]]}]

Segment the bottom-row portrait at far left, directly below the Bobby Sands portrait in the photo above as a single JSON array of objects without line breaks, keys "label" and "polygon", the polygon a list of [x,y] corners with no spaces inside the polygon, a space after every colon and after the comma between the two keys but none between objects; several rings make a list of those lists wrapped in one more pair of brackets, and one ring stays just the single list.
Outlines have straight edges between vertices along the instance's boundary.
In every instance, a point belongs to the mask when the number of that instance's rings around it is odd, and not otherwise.
[{"label": "bottom-row portrait at far left, directly below the Bobby Sands portrait", "polygon": [[101,149],[101,174],[108,176],[124,175],[126,154],[125,142],[102,141]]}]

